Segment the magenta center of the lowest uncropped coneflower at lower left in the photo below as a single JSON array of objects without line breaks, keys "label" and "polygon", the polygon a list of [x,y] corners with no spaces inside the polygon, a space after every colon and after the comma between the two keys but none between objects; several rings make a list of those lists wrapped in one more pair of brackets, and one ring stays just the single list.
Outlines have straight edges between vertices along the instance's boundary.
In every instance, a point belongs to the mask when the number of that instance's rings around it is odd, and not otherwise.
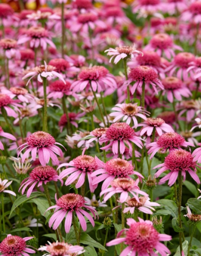
[{"label": "magenta center of the lowest uncropped coneflower at lower left", "polygon": [[78,194],[63,195],[56,204],[65,211],[75,211],[84,206],[85,200]]}]

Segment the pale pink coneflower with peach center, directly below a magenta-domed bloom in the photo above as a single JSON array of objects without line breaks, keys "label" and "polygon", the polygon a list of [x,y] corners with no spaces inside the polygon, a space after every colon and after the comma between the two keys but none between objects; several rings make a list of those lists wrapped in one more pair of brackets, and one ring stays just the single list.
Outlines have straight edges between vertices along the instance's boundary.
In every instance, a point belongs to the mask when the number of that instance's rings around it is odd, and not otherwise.
[{"label": "pale pink coneflower with peach center, directly below a magenta-domed bloom", "polygon": [[141,191],[138,187],[139,179],[136,181],[132,180],[132,178],[116,178],[110,182],[111,187],[106,188],[101,191],[100,196],[104,195],[104,201],[106,202],[111,196],[114,194],[120,193],[119,201],[121,203],[125,202],[128,193],[131,193],[137,201],[139,201],[138,194],[147,196],[147,193]]}]

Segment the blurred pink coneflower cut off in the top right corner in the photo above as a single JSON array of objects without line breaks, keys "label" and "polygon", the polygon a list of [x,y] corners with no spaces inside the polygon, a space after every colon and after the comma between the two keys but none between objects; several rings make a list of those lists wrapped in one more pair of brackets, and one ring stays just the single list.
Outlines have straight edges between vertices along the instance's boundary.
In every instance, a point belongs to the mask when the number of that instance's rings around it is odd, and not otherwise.
[{"label": "blurred pink coneflower cut off in the top right corner", "polygon": [[189,8],[185,10],[181,15],[182,20],[184,21],[191,20],[196,24],[200,23],[200,18],[201,18],[201,1],[195,1],[194,3],[191,3]]}]

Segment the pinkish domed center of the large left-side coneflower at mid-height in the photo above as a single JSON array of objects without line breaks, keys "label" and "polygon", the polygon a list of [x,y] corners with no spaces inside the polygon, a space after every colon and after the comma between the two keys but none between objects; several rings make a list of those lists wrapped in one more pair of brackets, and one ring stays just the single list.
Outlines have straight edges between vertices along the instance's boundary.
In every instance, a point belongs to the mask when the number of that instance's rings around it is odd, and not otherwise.
[{"label": "pinkish domed center of the large left-side coneflower at mid-height", "polygon": [[26,143],[32,147],[48,147],[55,143],[55,139],[52,135],[46,132],[35,132],[26,138]]}]

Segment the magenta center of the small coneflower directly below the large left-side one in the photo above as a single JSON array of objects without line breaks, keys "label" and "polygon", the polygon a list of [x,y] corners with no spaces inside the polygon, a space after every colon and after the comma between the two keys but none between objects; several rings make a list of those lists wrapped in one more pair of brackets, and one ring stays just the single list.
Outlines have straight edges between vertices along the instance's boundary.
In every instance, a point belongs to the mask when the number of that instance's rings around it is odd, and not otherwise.
[{"label": "magenta center of the small coneflower directly below the large left-side one", "polygon": [[36,181],[52,181],[54,177],[58,175],[57,172],[51,166],[38,166],[34,168],[31,173],[30,177],[34,178]]}]

